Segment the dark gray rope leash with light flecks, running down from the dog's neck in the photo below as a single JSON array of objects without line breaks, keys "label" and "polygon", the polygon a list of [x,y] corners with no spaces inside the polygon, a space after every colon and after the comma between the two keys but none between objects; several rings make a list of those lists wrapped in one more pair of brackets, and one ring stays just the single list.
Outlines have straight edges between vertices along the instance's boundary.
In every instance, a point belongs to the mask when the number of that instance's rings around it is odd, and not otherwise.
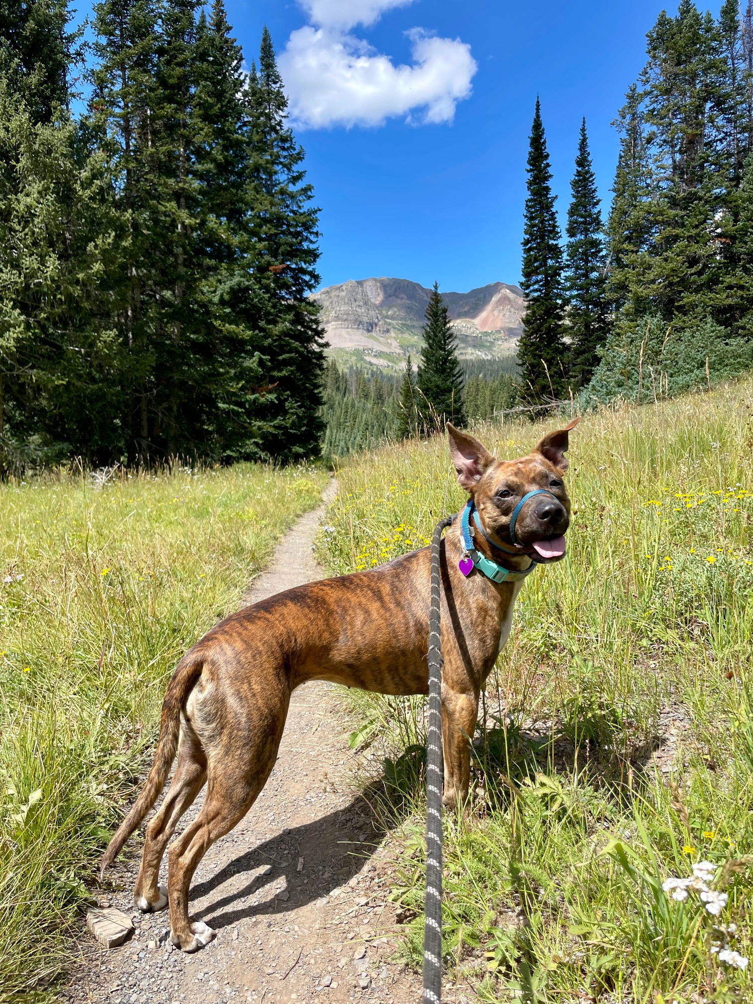
[{"label": "dark gray rope leash with light flecks, running down from the dog's neck", "polygon": [[440,638],[442,534],[454,516],[437,524],[432,540],[429,606],[429,739],[427,743],[426,923],[424,1004],[442,1000],[442,641]]}]

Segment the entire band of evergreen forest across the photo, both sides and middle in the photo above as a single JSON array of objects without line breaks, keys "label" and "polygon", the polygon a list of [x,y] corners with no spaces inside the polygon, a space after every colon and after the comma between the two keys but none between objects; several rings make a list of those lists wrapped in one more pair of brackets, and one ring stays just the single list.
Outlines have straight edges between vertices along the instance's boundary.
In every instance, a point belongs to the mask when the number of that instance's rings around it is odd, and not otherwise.
[{"label": "entire band of evergreen forest across the photo, both sides and middle", "polygon": [[331,459],[753,366],[753,0],[660,15],[608,212],[583,121],[564,234],[537,100],[518,358],[459,360],[435,286],[402,378],[325,365],[269,33],[247,72],[222,0],[100,0],[86,45],[69,25],[67,0],[0,4],[0,474]]}]

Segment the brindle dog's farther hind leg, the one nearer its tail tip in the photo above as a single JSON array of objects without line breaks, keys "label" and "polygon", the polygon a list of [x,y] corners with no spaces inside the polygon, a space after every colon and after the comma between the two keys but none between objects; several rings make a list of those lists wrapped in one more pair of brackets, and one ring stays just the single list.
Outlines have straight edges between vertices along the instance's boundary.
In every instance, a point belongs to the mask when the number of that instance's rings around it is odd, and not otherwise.
[{"label": "brindle dog's farther hind leg, the one nearer its tail tip", "polygon": [[181,816],[191,807],[206,779],[207,757],[199,737],[184,718],[173,780],[147,827],[142,866],[134,889],[134,903],[144,913],[164,910],[168,905],[167,888],[158,885],[163,854]]}]

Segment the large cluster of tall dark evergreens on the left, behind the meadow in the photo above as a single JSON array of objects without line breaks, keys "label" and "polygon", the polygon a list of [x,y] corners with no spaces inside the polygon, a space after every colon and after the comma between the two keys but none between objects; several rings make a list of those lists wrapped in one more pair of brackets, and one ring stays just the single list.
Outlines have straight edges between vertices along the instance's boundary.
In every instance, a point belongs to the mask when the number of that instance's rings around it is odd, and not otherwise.
[{"label": "large cluster of tall dark evergreens on the left, behind the meadow", "polygon": [[248,73],[222,0],[101,0],[85,53],[68,19],[0,4],[0,468],[315,454],[317,211],[269,34]]}]

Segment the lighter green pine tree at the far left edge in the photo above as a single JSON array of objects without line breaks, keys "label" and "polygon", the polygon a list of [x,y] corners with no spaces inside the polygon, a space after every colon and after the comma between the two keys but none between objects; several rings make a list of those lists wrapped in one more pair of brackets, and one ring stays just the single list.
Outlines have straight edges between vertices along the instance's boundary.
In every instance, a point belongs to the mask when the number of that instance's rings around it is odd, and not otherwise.
[{"label": "lighter green pine tree at the far left edge", "polygon": [[5,80],[0,162],[0,469],[97,463],[119,447],[111,178],[74,123],[35,123]]}]

